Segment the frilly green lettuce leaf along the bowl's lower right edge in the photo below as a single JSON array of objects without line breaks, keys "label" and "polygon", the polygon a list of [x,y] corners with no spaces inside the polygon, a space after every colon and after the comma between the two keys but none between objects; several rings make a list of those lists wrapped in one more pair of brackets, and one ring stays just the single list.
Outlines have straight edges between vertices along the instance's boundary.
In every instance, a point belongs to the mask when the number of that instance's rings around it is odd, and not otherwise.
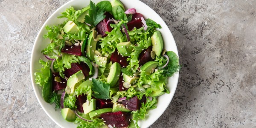
[{"label": "frilly green lettuce leaf along the bowl's lower right edge", "polygon": [[133,117],[132,120],[135,121],[137,128],[140,128],[138,125],[138,120],[145,119],[145,116],[148,113],[147,111],[150,109],[157,108],[156,105],[157,105],[157,99],[153,97],[152,100],[147,99],[147,102],[145,104],[142,103],[140,110],[131,112]]}]

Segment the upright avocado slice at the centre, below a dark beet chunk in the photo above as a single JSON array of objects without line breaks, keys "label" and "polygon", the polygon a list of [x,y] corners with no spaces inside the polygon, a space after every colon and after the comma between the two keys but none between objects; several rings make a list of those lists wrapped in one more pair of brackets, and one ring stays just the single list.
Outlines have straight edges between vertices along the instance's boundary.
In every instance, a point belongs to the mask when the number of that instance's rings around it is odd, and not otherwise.
[{"label": "upright avocado slice at the centre, below a dark beet chunk", "polygon": [[119,79],[121,73],[121,65],[117,62],[111,65],[110,71],[107,78],[107,83],[110,87],[113,87]]}]

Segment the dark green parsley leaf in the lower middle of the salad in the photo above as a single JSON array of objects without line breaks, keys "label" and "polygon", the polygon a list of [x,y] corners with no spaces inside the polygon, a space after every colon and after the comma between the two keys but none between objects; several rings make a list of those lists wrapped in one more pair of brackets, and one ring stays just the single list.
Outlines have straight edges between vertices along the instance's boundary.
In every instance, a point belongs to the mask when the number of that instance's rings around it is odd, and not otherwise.
[{"label": "dark green parsley leaf in the lower middle of the salad", "polygon": [[94,92],[96,92],[93,94],[93,96],[98,99],[110,99],[110,96],[109,96],[110,86],[97,79],[92,79],[92,81],[93,81],[92,89]]}]

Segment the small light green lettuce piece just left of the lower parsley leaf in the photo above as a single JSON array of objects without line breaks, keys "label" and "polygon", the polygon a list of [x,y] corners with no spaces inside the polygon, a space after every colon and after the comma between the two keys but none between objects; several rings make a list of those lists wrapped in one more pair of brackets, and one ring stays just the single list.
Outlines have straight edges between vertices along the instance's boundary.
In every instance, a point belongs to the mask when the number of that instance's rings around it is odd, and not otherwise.
[{"label": "small light green lettuce piece just left of the lower parsley leaf", "polygon": [[75,90],[76,96],[86,94],[87,99],[90,100],[92,98],[92,85],[93,82],[89,80],[82,82]]}]

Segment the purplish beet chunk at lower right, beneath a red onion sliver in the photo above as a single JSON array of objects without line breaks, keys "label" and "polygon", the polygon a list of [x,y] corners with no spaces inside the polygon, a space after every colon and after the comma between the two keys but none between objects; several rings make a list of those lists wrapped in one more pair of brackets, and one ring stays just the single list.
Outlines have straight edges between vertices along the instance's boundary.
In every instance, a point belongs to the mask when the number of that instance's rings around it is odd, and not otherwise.
[{"label": "purplish beet chunk at lower right, beneath a red onion sliver", "polygon": [[140,107],[141,107],[141,102],[137,96],[134,96],[133,98],[128,99],[128,100],[123,100],[122,104],[124,106],[127,105],[126,107],[132,111],[136,111],[136,110],[140,109]]}]

